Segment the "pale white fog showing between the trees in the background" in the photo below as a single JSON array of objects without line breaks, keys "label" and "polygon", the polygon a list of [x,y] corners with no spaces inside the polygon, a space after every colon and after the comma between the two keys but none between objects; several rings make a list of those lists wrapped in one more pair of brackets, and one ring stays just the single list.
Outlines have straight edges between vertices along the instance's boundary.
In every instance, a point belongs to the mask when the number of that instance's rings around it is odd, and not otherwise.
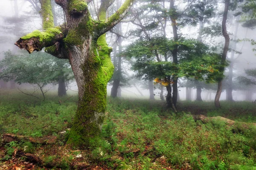
[{"label": "pale white fog showing between the trees in the background", "polygon": [[[97,2],[95,2],[97,3]],[[99,3],[99,2],[98,2]],[[38,3],[39,4],[39,3]],[[136,4],[136,7],[139,7],[142,4]],[[180,1],[176,4],[178,6],[178,9],[180,11],[183,10],[183,8],[186,8],[188,4],[183,3]],[[169,3],[166,3],[166,6],[169,6]],[[89,9],[91,10],[91,14],[94,14],[95,9],[97,8],[97,5],[90,4]],[[111,12],[114,12],[116,8],[116,4],[111,6],[111,10],[109,10],[109,14]],[[133,8],[132,8],[133,9]],[[204,24],[205,27],[211,26],[214,23],[221,24],[222,20],[222,14],[223,14],[224,5],[222,3],[219,3],[219,6],[217,8],[217,11],[215,13],[215,16],[210,18],[208,22]],[[238,9],[239,10],[239,9]],[[242,24],[244,23],[244,18],[241,17],[241,20],[239,20],[239,27],[238,27],[238,33],[235,35],[236,31],[236,17],[234,14],[236,11],[229,11],[228,13],[228,21],[227,21],[227,31],[230,35],[230,47],[227,54],[227,60],[231,60],[232,52],[236,51],[233,57],[233,82],[237,80],[237,77],[243,76],[247,79],[250,79],[252,83],[250,85],[242,85],[242,82],[236,82],[241,84],[239,88],[233,88],[232,95],[233,100],[235,101],[254,101],[256,99],[256,88],[255,88],[255,79],[256,77],[248,76],[245,74],[245,69],[256,69],[256,52],[253,51],[253,48],[255,48],[255,45],[251,44],[251,40],[256,40],[256,34],[254,28],[246,28],[243,27]],[[145,15],[154,15],[154,11],[147,11],[145,10]],[[245,14],[244,14],[245,15]],[[55,4],[55,16],[57,21],[57,25],[60,25],[64,22],[64,16],[61,8]],[[96,15],[94,15],[94,19],[96,19]],[[125,20],[135,20],[133,17],[129,16]],[[144,19],[143,19],[144,20]],[[146,20],[146,21],[145,21]],[[150,23],[150,19],[145,19],[142,23],[144,26],[147,23]],[[136,21],[136,23],[139,23]],[[181,20],[177,20],[177,23],[180,24]],[[133,36],[135,33],[129,33],[131,31],[137,30],[139,27],[134,25],[133,23],[129,22],[123,22],[122,23],[122,29],[119,30],[119,34],[122,34],[122,52],[125,51],[126,46],[129,44],[134,43],[136,40],[140,39],[139,37]],[[22,36],[32,32],[33,30],[39,29],[42,30],[42,21],[40,14],[33,8],[32,4],[28,2],[28,0],[9,0],[9,1],[0,1],[0,59],[4,59],[6,56],[6,51],[11,51],[14,55],[23,55],[26,53],[24,50],[18,49],[17,46],[14,45],[14,43]],[[114,31],[116,30],[113,29]],[[114,32],[112,30],[112,32]],[[179,27],[179,34],[182,34],[185,38],[193,38],[197,39],[198,37],[198,31],[199,31],[199,23],[196,23],[194,26],[184,24],[183,26]],[[157,31],[153,31],[150,33],[151,36],[154,35],[163,35],[163,31],[158,28]],[[142,36],[143,37],[143,36]],[[167,21],[166,26],[166,37],[172,38],[173,32],[172,32],[172,23],[170,21]],[[234,49],[234,38],[236,37],[236,49]],[[116,34],[111,33],[109,31],[107,33],[107,41],[108,45],[112,48],[117,48],[117,54],[114,54],[114,52],[111,53],[112,60],[114,55],[119,55],[118,53],[121,52],[118,50],[119,45],[115,46],[115,43],[119,43],[118,40],[116,40]],[[202,41],[206,43],[209,48],[219,45],[217,53],[222,54],[223,47],[224,47],[224,37],[223,36],[215,36],[211,37],[207,34],[202,35]],[[216,52],[216,51],[212,51]],[[44,50],[39,53],[44,53]],[[121,54],[120,54],[121,55]],[[146,54],[145,54],[146,55]],[[116,60],[118,57],[116,57]],[[156,59],[154,59],[156,60]],[[168,58],[169,62],[172,62],[172,57]],[[114,62],[114,61],[113,61]],[[148,80],[137,76],[137,71],[132,70],[134,64],[134,60],[128,59],[125,57],[122,57],[122,72],[125,73],[126,80],[121,80],[121,84],[119,87],[119,91],[121,91],[121,97],[127,97],[127,98],[142,98],[142,99],[149,99],[149,89],[148,89]],[[117,66],[117,65],[116,65]],[[2,68],[2,70],[5,69]],[[2,71],[1,70],[1,71]],[[225,77],[224,80],[228,79],[229,76],[229,66],[225,68]],[[145,77],[145,76],[144,76]],[[146,76],[147,77],[147,76]],[[157,78],[157,77],[154,77]],[[152,81],[153,79],[151,79]],[[186,94],[186,78],[179,78],[178,82],[178,95],[180,100],[186,100],[187,95]],[[4,82],[4,79],[0,80],[0,88],[1,89],[14,89],[16,91],[17,88],[30,91],[34,89],[33,84],[27,83],[15,83],[15,79],[9,80],[8,82]],[[67,83],[67,82],[66,82]],[[205,82],[202,82],[203,84],[208,85]],[[110,81],[107,92],[108,96],[111,95],[111,88],[113,85],[113,81]],[[137,88],[135,88],[135,86]],[[202,93],[201,97],[204,101],[210,101],[214,100],[216,90],[217,90],[217,84],[211,83],[210,88],[206,88],[202,86]],[[221,100],[226,99],[226,87],[224,86],[222,93],[221,93]],[[77,93],[78,88],[76,86],[76,82],[74,79],[70,79],[69,83],[67,83],[66,88],[68,89],[68,93]],[[196,88],[194,86],[187,87],[189,88],[189,100],[194,101],[196,99]],[[50,89],[52,93],[55,93],[57,95],[58,90],[58,83],[49,83],[48,85],[44,86],[44,89]],[[160,85],[154,84],[154,99],[160,100]],[[25,94],[24,94],[25,95]],[[38,94],[40,95],[40,94]],[[164,89],[163,95],[166,95],[166,90]],[[119,94],[120,97],[120,94]]]}]

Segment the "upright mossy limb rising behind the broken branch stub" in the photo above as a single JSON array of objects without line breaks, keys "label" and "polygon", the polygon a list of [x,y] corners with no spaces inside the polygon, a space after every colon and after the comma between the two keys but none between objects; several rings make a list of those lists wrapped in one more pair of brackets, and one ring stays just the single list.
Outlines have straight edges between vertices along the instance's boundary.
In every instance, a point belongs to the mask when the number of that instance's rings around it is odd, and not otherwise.
[{"label": "upright mossy limb rising behind the broken branch stub", "polygon": [[43,29],[54,27],[51,0],[42,0],[41,15],[43,17]]}]

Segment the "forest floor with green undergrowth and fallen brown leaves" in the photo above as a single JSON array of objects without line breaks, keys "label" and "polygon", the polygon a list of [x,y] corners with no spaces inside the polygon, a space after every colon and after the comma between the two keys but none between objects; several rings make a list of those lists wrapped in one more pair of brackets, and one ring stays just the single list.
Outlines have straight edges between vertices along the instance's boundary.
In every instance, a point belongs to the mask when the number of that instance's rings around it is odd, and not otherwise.
[{"label": "forest floor with green undergrowth and fallen brown leaves", "polygon": [[162,101],[108,98],[102,139],[75,148],[65,142],[77,96],[0,96],[0,170],[256,170],[252,102],[180,101],[175,114]]}]

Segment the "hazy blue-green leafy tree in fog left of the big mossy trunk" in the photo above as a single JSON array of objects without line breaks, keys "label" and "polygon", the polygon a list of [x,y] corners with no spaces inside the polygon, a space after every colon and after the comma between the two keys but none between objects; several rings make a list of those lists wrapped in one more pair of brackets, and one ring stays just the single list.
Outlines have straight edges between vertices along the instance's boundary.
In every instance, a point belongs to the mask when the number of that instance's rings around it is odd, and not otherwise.
[{"label": "hazy blue-green leafy tree in fog left of the big mossy trunk", "polygon": [[[13,55],[11,51],[5,53],[5,58],[0,61],[0,79],[9,81],[14,79],[18,84],[29,83],[33,85],[32,93],[24,94],[38,98],[38,90],[45,99],[45,93],[49,89],[44,89],[47,84],[56,84],[59,77],[64,77],[67,81],[74,79],[70,64],[66,60],[52,58],[51,55],[43,52],[32,55]],[[66,93],[66,88],[65,92]],[[61,96],[58,94],[58,96]],[[39,99],[39,98],[38,98]]]}]

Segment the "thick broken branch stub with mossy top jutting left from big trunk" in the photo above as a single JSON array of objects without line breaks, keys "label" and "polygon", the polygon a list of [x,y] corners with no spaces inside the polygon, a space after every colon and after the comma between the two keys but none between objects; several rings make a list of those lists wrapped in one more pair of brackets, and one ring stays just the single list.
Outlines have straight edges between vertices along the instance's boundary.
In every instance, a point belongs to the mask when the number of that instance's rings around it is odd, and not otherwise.
[{"label": "thick broken branch stub with mossy top jutting left from big trunk", "polygon": [[61,32],[61,28],[47,28],[44,31],[35,30],[21,37],[15,45],[20,49],[25,49],[30,54],[33,51],[41,51],[44,47],[52,46],[63,38],[64,35]]}]

